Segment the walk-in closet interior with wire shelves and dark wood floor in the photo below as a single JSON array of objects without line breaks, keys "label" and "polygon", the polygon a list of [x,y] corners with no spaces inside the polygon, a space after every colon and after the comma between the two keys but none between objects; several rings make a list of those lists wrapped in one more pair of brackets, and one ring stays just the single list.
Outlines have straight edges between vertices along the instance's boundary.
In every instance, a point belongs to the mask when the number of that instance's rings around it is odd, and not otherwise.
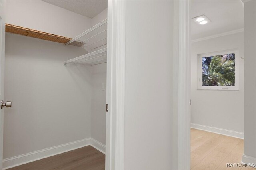
[{"label": "walk-in closet interior with wire shelves and dark wood floor", "polygon": [[107,1],[5,5],[3,168],[105,169]]}]

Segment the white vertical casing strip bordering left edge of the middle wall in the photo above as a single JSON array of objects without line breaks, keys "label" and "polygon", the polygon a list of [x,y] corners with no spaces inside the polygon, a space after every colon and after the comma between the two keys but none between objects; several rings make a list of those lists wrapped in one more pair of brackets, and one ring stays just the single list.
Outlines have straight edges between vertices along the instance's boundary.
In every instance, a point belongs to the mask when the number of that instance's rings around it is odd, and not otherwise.
[{"label": "white vertical casing strip bordering left edge of the middle wall", "polygon": [[118,1],[116,37],[116,164],[124,169],[125,27],[126,1]]}]

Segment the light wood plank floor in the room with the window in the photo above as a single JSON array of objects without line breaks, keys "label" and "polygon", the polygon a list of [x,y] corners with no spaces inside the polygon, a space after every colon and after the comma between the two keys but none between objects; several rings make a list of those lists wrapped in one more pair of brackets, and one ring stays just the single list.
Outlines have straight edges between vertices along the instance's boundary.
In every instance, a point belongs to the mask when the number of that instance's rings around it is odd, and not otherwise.
[{"label": "light wood plank floor in the room with the window", "polygon": [[227,163],[241,163],[244,140],[221,134],[191,129],[192,170],[255,170],[227,168]]}]

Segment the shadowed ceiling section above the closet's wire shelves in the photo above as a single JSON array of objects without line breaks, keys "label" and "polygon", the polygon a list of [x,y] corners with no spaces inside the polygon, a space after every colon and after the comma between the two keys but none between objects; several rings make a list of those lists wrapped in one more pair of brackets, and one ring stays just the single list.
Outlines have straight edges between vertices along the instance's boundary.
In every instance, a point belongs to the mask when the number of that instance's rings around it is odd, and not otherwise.
[{"label": "shadowed ceiling section above the closet's wire shelves", "polygon": [[107,0],[43,0],[77,14],[93,18],[108,7]]}]

